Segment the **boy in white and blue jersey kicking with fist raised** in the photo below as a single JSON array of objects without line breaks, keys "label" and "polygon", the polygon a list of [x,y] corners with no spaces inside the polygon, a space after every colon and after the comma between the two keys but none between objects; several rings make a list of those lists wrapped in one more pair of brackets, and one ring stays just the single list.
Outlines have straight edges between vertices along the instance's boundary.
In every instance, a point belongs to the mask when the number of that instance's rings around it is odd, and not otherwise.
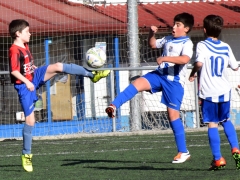
[{"label": "boy in white and blue jersey kicking with fist raised", "polygon": [[162,39],[155,38],[157,27],[151,26],[149,45],[152,48],[163,48],[163,55],[157,58],[159,67],[132,82],[106,108],[108,116],[113,118],[116,115],[116,109],[132,99],[138,92],[156,93],[162,91],[161,102],[167,106],[170,125],[178,148],[178,154],[172,163],[183,163],[190,158],[179,110],[184,94],[186,66],[193,54],[193,43],[187,36],[193,24],[194,17],[191,14],[178,14],[174,17],[172,35]]}]

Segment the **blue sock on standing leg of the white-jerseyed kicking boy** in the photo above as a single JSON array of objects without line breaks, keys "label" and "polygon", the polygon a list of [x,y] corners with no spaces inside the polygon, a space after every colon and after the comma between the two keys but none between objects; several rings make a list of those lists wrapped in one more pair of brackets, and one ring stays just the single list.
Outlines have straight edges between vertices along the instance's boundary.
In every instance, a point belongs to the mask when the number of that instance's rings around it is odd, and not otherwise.
[{"label": "blue sock on standing leg of the white-jerseyed kicking boy", "polygon": [[171,121],[170,126],[173,130],[178,152],[186,153],[188,150],[185,140],[185,131],[181,120],[178,118],[175,121]]}]

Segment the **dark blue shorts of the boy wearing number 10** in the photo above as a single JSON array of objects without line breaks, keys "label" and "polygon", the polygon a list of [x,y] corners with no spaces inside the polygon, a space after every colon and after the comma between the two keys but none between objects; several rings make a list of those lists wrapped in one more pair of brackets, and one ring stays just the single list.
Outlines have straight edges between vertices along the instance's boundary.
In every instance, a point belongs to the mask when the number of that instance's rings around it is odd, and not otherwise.
[{"label": "dark blue shorts of the boy wearing number 10", "polygon": [[230,101],[216,103],[202,99],[202,115],[203,123],[226,121],[230,117]]}]

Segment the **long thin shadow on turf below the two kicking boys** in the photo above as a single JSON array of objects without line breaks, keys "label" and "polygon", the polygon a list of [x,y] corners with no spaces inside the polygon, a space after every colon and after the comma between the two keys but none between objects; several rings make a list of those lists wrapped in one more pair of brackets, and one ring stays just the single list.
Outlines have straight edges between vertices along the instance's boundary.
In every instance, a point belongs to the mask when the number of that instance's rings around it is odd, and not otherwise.
[{"label": "long thin shadow on turf below the two kicking boys", "polygon": [[[143,163],[142,161],[122,161],[122,160],[78,160],[78,159],[65,159],[64,161],[68,162],[68,163],[64,163],[61,166],[73,166],[73,165],[77,165],[77,164],[84,164],[84,163]],[[171,164],[171,162],[148,162],[148,163],[167,163],[167,164]]]}]

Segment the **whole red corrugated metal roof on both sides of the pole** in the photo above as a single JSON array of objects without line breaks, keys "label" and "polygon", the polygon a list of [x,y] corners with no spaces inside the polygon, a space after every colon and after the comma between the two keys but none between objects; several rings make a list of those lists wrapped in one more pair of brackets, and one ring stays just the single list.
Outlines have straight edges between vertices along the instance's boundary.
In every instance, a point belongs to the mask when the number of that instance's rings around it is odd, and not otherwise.
[{"label": "whole red corrugated metal roof on both sides of the pole", "polygon": [[[105,32],[127,31],[127,4],[94,7],[66,0],[1,0],[0,34],[8,34],[13,19],[29,21],[31,32]],[[138,25],[144,29],[151,25],[161,28],[172,26],[173,18],[181,12],[194,15],[195,27],[202,27],[203,18],[217,14],[224,18],[225,26],[240,25],[240,1],[170,2],[138,4]]]}]

